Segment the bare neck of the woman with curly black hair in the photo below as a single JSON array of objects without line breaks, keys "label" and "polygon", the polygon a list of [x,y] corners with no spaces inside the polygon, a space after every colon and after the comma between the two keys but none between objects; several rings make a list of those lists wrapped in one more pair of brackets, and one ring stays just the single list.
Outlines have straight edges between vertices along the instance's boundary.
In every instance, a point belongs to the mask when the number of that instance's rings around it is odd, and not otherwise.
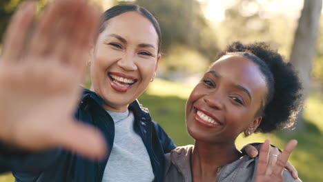
[{"label": "bare neck of the woman with curly black hair", "polygon": [[220,167],[242,156],[235,143],[204,143],[195,141],[190,159],[193,181],[215,181]]}]

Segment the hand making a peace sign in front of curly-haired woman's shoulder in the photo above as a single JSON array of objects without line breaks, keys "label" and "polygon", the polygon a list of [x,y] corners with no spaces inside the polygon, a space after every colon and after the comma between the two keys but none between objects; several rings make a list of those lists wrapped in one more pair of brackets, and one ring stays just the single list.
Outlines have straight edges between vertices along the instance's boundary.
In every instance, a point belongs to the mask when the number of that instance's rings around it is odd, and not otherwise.
[{"label": "hand making a peace sign in front of curly-haired woman's shoulder", "polygon": [[[288,160],[289,155],[293,152],[293,149],[296,147],[297,141],[291,140],[287,143],[286,148],[280,154],[280,156],[269,155],[269,140],[266,140],[262,147],[260,148],[259,161],[257,163],[257,176],[255,182],[282,182],[284,178],[282,172],[284,166]],[[277,158],[278,157],[278,158]],[[268,163],[268,158],[277,158],[275,163]]]}]

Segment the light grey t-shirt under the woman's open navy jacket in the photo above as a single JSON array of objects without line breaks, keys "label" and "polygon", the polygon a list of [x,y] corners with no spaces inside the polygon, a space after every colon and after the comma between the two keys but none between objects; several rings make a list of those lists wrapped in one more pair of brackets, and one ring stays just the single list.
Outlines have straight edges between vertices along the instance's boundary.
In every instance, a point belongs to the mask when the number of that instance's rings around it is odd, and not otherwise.
[{"label": "light grey t-shirt under the woman's open navy jacket", "polygon": [[153,181],[148,152],[133,128],[133,112],[107,112],[115,122],[115,141],[102,182]]}]

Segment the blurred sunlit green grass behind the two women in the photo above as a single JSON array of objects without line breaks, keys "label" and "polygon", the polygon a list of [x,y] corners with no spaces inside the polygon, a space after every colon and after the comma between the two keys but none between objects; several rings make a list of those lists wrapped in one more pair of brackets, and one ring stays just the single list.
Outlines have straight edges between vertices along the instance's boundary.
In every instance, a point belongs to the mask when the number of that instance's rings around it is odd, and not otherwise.
[{"label": "blurred sunlit green grass behind the two women", "polygon": [[[185,103],[192,88],[179,83],[155,79],[150,87],[139,97],[139,101],[150,110],[153,119],[160,123],[176,145],[193,144],[193,139],[186,132],[184,122]],[[323,181],[323,99],[319,94],[311,94],[305,102],[304,119],[308,130],[275,132],[273,134],[252,134],[249,137],[239,136],[237,147],[246,143],[263,142],[271,139],[271,143],[284,149],[290,139],[297,139],[298,145],[290,157],[302,181]],[[11,174],[0,176],[0,182],[14,181]]]}]

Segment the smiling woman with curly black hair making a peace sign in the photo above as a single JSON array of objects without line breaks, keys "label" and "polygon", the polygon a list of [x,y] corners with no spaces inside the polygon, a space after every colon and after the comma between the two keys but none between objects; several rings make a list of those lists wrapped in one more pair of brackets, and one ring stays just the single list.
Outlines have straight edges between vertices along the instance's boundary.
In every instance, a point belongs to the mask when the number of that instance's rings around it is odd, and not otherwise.
[{"label": "smiling woman with curly black hair making a peace sign", "polygon": [[302,85],[290,63],[266,43],[235,42],[219,53],[186,103],[186,126],[195,145],[166,154],[165,181],[300,181],[283,170],[297,141],[273,169],[262,146],[252,159],[235,147],[241,133],[290,128],[302,105]]}]

